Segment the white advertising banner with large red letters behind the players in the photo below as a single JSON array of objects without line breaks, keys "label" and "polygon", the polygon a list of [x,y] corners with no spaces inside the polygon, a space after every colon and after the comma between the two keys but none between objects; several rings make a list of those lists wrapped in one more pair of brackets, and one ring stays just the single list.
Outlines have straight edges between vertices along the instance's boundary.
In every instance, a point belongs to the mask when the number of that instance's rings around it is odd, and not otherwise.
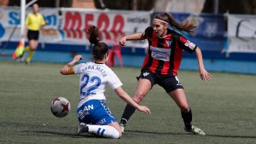
[{"label": "white advertising banner with large red letters behind the players", "polygon": [[[84,32],[89,26],[97,26],[105,42],[118,42],[121,37],[143,32],[150,26],[149,12],[99,9],[61,9],[61,30],[64,42],[89,44]],[[127,46],[147,47],[148,42],[128,42]]]}]

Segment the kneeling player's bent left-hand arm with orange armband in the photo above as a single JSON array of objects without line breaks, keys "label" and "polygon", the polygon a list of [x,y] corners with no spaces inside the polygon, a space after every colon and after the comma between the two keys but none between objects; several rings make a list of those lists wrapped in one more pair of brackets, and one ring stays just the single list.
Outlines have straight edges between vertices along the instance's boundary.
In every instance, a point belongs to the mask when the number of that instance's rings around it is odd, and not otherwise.
[{"label": "kneeling player's bent left-hand arm with orange armband", "polygon": [[61,74],[63,74],[63,75],[74,74],[73,65],[82,59],[83,59],[82,55],[75,55],[72,61],[70,61],[66,65],[62,66]]}]

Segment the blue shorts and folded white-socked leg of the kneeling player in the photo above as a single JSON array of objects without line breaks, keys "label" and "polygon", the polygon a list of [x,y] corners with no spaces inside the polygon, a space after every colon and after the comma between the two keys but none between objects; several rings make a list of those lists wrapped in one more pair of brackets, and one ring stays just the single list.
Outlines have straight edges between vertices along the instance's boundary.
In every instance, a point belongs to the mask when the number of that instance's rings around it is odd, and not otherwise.
[{"label": "blue shorts and folded white-socked leg of the kneeling player", "polygon": [[77,135],[85,132],[113,139],[121,136],[119,124],[109,110],[106,101],[86,101],[78,108],[77,113],[80,122]]}]

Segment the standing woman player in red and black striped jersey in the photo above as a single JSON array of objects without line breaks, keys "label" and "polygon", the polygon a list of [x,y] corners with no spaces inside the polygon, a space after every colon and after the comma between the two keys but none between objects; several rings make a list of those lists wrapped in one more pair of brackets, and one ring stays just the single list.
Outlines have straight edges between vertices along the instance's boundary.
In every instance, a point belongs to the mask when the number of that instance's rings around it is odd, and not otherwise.
[{"label": "standing woman player in red and black striped jersey", "polygon": [[[204,68],[201,49],[182,35],[187,32],[195,36],[197,26],[188,20],[179,23],[172,17],[172,14],[166,13],[156,14],[152,24],[153,26],[148,26],[143,33],[125,36],[119,40],[119,44],[124,46],[129,40],[148,39],[148,55],[144,59],[141,74],[138,77],[137,90],[132,99],[140,103],[154,84],[159,84],[181,109],[184,130],[196,135],[206,135],[203,130],[191,124],[192,112],[183,86],[177,78],[183,50],[189,53],[195,52],[202,80],[208,81],[212,78]],[[169,29],[168,26],[171,26],[172,29]],[[125,130],[125,124],[134,112],[135,108],[127,104],[120,121],[122,131]]]}]

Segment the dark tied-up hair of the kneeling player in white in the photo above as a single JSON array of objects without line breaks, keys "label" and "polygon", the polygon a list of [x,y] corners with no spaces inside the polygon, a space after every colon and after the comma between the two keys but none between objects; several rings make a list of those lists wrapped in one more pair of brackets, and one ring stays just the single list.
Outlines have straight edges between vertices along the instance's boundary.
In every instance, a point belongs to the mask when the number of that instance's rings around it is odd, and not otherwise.
[{"label": "dark tied-up hair of the kneeling player in white", "polygon": [[92,55],[95,60],[103,60],[104,55],[108,53],[108,45],[102,43],[102,36],[96,26],[90,26],[86,31],[89,35],[90,44],[94,44]]}]

